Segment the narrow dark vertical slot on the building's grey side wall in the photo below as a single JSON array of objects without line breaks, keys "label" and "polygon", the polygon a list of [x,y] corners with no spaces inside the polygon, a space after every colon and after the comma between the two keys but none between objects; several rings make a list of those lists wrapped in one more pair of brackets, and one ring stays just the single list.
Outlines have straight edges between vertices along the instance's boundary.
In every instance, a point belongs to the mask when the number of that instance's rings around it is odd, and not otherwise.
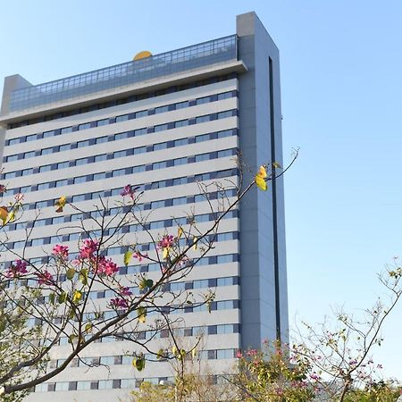
[{"label": "narrow dark vertical slot on the building's grey side wall", "polygon": [[[271,162],[275,162],[275,114],[273,108],[273,67],[272,58],[269,58],[270,75],[270,119],[271,119]],[[272,222],[273,222],[273,270],[275,276],[275,314],[276,339],[281,340],[281,298],[280,298],[280,270],[278,250],[278,211],[276,202],[275,167],[272,166]]]}]

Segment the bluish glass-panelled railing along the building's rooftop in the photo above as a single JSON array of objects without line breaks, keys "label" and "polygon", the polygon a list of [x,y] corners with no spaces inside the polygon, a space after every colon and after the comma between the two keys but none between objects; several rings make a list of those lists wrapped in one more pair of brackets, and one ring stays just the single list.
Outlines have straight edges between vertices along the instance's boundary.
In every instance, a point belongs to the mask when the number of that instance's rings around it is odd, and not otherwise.
[{"label": "bluish glass-panelled railing along the building's rooftop", "polygon": [[13,112],[46,105],[236,59],[237,36],[231,35],[138,61],[14,90],[10,94],[9,110]]}]

